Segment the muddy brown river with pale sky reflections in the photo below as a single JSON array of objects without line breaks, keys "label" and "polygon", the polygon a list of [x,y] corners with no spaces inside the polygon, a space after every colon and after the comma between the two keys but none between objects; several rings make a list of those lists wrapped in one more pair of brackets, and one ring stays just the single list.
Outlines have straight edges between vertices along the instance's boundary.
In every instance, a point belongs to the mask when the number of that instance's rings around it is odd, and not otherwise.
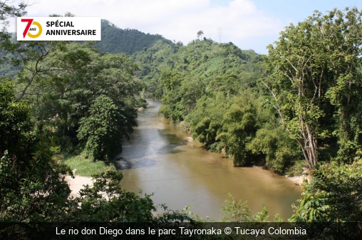
[{"label": "muddy brown river with pale sky reflections", "polygon": [[265,204],[270,214],[279,213],[284,220],[293,214],[291,204],[299,199],[300,187],[259,167],[233,167],[224,155],[207,152],[200,142],[157,117],[160,102],[148,103],[118,156],[124,189],[153,193],[155,204],[170,209],[192,205],[192,212],[216,220],[228,193],[247,201],[255,212]]}]

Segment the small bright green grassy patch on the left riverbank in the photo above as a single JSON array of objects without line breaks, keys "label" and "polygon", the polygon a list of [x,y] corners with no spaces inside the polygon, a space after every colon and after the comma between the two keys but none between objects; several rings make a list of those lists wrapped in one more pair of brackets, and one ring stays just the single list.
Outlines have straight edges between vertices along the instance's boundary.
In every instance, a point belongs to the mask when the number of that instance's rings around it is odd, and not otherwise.
[{"label": "small bright green grassy patch on the left riverbank", "polygon": [[86,158],[84,153],[80,155],[58,155],[57,158],[71,167],[71,169],[77,169],[76,175],[83,177],[91,177],[93,174],[115,170],[114,165],[106,165],[105,162],[102,161],[93,162]]}]

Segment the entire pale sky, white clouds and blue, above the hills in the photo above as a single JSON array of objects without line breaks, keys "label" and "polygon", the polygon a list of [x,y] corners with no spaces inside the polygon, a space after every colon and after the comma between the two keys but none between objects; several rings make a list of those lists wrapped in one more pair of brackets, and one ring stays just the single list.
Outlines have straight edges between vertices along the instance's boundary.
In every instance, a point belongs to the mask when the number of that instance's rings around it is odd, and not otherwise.
[{"label": "entire pale sky, white clouds and blue, above the hills", "polygon": [[[335,7],[362,7],[356,0],[29,0],[27,16],[65,14],[99,16],[119,28],[158,33],[184,44],[202,30],[206,38],[231,41],[242,49],[267,53],[266,46],[277,40],[289,23],[296,24],[313,14]],[[12,22],[13,23],[13,22]],[[16,31],[11,24],[9,31]]]}]

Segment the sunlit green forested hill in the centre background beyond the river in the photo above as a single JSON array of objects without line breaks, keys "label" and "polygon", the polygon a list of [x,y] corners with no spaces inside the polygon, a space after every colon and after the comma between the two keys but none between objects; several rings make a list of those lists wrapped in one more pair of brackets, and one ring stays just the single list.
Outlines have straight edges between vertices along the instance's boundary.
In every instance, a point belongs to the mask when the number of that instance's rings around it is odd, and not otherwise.
[{"label": "sunlit green forested hill in the centre background beyond the river", "polygon": [[157,99],[164,95],[160,76],[167,69],[177,71],[182,79],[187,78],[204,88],[214,78],[230,74],[242,78],[243,85],[254,85],[262,71],[257,64],[262,61],[259,54],[252,50],[242,51],[233,43],[220,44],[211,39],[197,39],[187,46],[180,42],[157,41],[151,48],[136,52],[131,58],[141,68],[138,77],[147,85],[146,94]]}]

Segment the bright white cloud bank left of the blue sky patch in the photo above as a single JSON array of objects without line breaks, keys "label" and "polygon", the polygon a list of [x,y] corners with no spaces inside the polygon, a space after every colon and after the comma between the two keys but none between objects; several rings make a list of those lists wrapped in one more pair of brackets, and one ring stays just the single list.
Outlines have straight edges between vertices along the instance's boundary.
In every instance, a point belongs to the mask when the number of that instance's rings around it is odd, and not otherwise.
[{"label": "bright white cloud bank left of the blue sky patch", "polygon": [[[257,9],[251,0],[233,0],[219,6],[210,0],[36,0],[28,8],[28,16],[65,14],[100,16],[120,28],[135,28],[145,33],[158,33],[165,38],[188,43],[202,30],[206,38],[218,41],[217,28],[222,28],[222,42],[232,41],[241,48],[253,48],[250,39],[278,35],[285,25]],[[262,46],[264,48],[264,46]]]}]

